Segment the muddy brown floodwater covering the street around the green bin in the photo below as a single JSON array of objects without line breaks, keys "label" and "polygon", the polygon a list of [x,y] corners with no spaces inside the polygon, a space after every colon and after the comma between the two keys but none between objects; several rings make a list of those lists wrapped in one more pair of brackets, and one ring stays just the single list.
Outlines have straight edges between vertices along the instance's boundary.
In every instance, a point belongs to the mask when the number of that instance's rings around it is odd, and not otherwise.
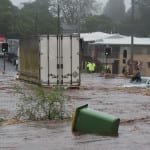
[{"label": "muddy brown floodwater covering the street around the green bin", "polygon": [[5,74],[0,60],[0,150],[149,150],[150,90],[124,87],[129,79],[105,79],[98,74],[81,74],[80,89],[65,91],[70,96],[70,114],[78,106],[115,115],[121,119],[117,137],[94,134],[74,135],[71,120],[19,122],[13,119],[19,96],[14,85],[15,66],[7,63]]}]

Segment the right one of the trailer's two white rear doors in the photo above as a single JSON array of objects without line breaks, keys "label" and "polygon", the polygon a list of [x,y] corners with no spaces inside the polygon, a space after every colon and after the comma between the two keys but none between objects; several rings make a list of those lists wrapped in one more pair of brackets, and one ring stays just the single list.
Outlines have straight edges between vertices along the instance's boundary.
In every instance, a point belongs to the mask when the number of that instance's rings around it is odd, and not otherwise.
[{"label": "right one of the trailer's two white rear doors", "polygon": [[79,84],[79,38],[64,36],[62,39],[63,84]]}]

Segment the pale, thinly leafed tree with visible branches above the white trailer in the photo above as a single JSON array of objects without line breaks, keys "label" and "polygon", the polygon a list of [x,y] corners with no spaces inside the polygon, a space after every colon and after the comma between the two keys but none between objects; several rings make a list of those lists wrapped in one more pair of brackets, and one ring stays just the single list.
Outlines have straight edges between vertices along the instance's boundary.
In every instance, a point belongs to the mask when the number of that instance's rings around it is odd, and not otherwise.
[{"label": "pale, thinly leafed tree with visible branches above the white trailer", "polygon": [[56,15],[57,5],[60,6],[61,21],[69,25],[78,24],[79,18],[93,15],[97,12],[96,0],[52,0],[50,10]]}]

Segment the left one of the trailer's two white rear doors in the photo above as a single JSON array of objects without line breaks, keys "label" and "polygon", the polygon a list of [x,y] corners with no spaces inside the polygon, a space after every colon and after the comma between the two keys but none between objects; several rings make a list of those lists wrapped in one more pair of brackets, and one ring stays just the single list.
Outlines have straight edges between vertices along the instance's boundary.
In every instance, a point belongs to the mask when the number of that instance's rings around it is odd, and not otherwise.
[{"label": "left one of the trailer's two white rear doors", "polygon": [[41,50],[41,83],[44,85],[57,85],[58,83],[58,38],[56,36],[43,36],[40,38]]}]

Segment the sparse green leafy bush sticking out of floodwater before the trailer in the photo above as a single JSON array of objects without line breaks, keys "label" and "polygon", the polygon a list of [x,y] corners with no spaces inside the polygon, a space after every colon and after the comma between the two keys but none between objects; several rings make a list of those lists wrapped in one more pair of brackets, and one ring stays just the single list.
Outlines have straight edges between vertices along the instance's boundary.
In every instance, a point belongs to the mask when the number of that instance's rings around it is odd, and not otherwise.
[{"label": "sparse green leafy bush sticking out of floodwater before the trailer", "polygon": [[68,97],[64,95],[61,87],[53,89],[35,86],[27,89],[16,87],[16,91],[21,95],[17,107],[17,118],[52,120],[69,117],[64,107]]}]

